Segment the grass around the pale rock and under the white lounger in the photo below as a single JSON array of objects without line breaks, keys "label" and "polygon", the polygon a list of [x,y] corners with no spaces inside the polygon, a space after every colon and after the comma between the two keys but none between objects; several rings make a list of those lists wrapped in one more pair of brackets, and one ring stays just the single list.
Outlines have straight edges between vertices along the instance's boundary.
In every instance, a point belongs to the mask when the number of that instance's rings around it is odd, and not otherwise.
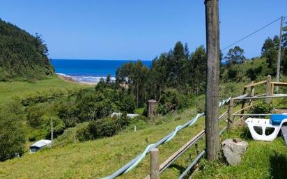
[{"label": "grass around the pale rock and under the white lounger", "polygon": [[277,137],[272,142],[254,141],[247,128],[238,128],[224,139],[241,137],[249,143],[247,152],[238,166],[228,166],[221,162],[201,162],[201,170],[194,179],[222,178],[287,178],[287,148],[284,139]]}]

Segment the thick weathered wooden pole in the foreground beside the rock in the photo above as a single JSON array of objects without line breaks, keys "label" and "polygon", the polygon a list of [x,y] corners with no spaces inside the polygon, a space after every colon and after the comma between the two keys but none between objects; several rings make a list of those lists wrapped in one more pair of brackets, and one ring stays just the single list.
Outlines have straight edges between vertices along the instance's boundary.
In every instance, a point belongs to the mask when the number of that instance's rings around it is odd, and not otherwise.
[{"label": "thick weathered wooden pole in the foreground beside the rock", "polygon": [[219,10],[218,0],[205,0],[207,75],[205,98],[205,146],[207,158],[218,159],[219,129]]}]

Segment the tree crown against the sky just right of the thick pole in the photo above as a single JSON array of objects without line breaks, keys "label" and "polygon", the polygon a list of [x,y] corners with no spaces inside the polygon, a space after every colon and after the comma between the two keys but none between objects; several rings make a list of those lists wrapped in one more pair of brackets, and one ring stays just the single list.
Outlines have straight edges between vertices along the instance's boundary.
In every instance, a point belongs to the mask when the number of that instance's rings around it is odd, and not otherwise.
[{"label": "tree crown against the sky just right of the thick pole", "polygon": [[233,49],[229,49],[227,55],[224,57],[227,65],[231,66],[234,64],[243,63],[245,60],[244,49],[241,49],[239,46],[235,46]]}]

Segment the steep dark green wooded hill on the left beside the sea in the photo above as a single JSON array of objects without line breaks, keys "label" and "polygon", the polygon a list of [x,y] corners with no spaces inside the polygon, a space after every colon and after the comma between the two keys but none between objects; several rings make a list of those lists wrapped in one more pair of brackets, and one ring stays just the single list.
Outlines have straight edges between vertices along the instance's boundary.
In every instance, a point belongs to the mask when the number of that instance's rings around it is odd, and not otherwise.
[{"label": "steep dark green wooded hill on the left beside the sea", "polygon": [[0,81],[44,79],[54,74],[47,46],[36,34],[0,19]]}]

